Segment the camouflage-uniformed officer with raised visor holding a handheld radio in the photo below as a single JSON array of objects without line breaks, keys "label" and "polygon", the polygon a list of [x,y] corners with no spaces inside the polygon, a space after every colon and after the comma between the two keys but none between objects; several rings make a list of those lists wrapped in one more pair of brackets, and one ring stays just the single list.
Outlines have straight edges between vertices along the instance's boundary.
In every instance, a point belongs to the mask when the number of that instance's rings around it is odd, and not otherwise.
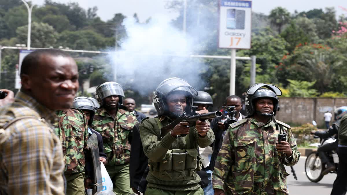
[{"label": "camouflage-uniformed officer with raised visor holding a handheld radio", "polygon": [[[289,194],[284,165],[294,166],[300,153],[290,126],[273,118],[281,94],[269,84],[256,84],[247,91],[249,116],[230,125],[215,163],[215,195]],[[286,141],[279,142],[279,137]]]}]

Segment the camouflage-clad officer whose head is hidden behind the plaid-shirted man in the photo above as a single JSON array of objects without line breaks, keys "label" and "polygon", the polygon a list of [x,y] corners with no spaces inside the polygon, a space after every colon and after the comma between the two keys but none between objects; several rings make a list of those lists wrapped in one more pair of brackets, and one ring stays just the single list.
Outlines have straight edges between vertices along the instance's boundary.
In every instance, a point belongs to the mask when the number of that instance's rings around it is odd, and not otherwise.
[{"label": "camouflage-clad officer whose head is hidden behind the plaid-shirted man", "polygon": [[53,124],[63,148],[67,195],[84,195],[84,167],[88,119],[81,110],[57,111],[59,122]]}]

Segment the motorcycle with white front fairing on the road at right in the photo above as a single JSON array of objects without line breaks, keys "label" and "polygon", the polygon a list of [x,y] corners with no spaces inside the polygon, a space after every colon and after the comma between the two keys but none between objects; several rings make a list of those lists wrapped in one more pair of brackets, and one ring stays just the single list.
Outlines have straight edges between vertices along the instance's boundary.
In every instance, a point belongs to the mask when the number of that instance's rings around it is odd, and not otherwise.
[{"label": "motorcycle with white front fairing on the road at right", "polygon": [[[316,126],[316,122],[312,121],[312,124],[314,126]],[[333,143],[336,142],[337,140],[333,137],[329,137],[329,138],[322,138],[319,136],[314,136],[314,138],[319,138],[320,141],[319,143],[314,143],[314,144],[310,144],[310,146],[314,146],[314,147],[320,147],[321,145],[324,144],[328,144],[328,143]],[[330,171],[330,173],[337,173],[337,165],[339,163],[339,157],[337,155],[336,150],[333,151],[329,151],[327,152],[328,154],[328,158],[329,161],[334,164],[335,163],[335,170]],[[306,173],[306,177],[312,181],[312,182],[319,182],[324,175],[322,175],[322,172],[325,169],[325,164],[322,164],[321,159],[319,158],[318,152],[317,151],[313,151],[310,154],[307,155],[306,161],[305,161],[305,173]]]}]

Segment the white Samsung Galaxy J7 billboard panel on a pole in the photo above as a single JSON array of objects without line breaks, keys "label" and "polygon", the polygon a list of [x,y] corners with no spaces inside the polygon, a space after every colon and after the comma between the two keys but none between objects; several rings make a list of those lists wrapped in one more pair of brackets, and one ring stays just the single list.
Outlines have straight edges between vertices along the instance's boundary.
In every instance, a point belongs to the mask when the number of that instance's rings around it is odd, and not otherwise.
[{"label": "white Samsung Galaxy J7 billboard panel on a pole", "polygon": [[252,1],[219,0],[219,48],[251,48]]}]

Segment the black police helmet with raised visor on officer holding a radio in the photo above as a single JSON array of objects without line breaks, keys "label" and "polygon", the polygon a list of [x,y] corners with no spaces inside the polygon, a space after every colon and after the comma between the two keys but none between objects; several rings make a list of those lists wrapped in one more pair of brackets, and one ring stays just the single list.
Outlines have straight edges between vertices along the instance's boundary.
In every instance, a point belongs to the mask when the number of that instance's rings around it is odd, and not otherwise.
[{"label": "black police helmet with raised visor on officer holding a radio", "polygon": [[[265,88],[266,87],[266,88]],[[262,114],[264,116],[273,117],[276,115],[278,108],[278,97],[282,95],[281,90],[271,84],[255,84],[246,93],[245,106],[248,112],[248,116],[255,114],[255,101],[258,99],[272,99],[273,100],[273,113],[272,114]]]}]

